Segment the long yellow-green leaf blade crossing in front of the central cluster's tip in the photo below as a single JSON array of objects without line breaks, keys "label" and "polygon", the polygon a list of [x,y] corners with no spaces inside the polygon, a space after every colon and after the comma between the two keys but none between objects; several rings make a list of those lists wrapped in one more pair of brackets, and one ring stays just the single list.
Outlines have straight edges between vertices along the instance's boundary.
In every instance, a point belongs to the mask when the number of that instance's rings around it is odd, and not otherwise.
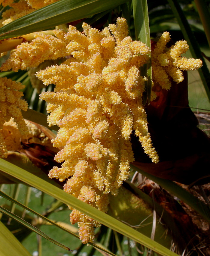
[{"label": "long yellow-green leaf blade crossing in front of the central cluster's tip", "polygon": [[84,214],[87,214],[89,217],[93,218],[94,220],[97,220],[98,222],[121,233],[122,235],[127,236],[130,239],[142,245],[145,245],[146,247],[152,249],[153,251],[156,251],[157,253],[160,253],[161,255],[165,255],[165,256],[177,255],[174,252],[170,251],[169,249],[165,248],[164,246],[151,240],[147,236],[139,233],[135,229],[132,229],[131,227],[109,216],[108,214],[105,214],[97,210],[96,208],[93,208],[92,206],[84,203],[78,198],[75,198],[74,196],[65,193],[61,189],[51,185],[50,183],[47,183],[44,180],[41,180],[40,178],[32,175],[26,170],[23,170],[11,163],[8,163],[3,159],[0,159],[0,168],[2,171],[16,177],[17,179],[22,180],[23,182],[43,191],[48,195],[53,196],[57,200],[62,201],[63,203],[71,206],[72,208],[77,209],[78,211],[81,211]]}]

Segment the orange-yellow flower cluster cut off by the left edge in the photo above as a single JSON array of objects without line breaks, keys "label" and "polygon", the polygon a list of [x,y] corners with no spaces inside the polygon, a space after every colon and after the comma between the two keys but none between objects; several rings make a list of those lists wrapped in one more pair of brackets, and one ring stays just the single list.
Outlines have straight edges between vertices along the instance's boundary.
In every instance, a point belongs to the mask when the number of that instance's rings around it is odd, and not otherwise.
[{"label": "orange-yellow flower cluster cut off by the left edge", "polygon": [[20,133],[26,134],[28,132],[21,113],[21,110],[27,110],[28,105],[26,101],[21,99],[23,93],[19,91],[24,87],[21,83],[16,83],[6,77],[0,78],[0,158],[7,157],[7,146],[2,134],[5,122],[8,122],[13,117]]}]

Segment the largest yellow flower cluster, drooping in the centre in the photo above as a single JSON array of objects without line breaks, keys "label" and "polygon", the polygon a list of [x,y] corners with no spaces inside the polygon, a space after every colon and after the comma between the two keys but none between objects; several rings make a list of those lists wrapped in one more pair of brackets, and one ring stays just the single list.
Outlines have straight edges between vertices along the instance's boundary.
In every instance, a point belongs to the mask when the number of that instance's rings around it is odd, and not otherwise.
[{"label": "largest yellow flower cluster, drooping in the centre", "polygon": [[[101,32],[86,23],[83,29],[70,26],[63,36],[66,61],[37,73],[45,85],[56,85],[55,92],[40,95],[51,113],[49,126],[60,128],[53,146],[63,148],[55,156],[62,167],[49,177],[68,179],[66,192],[106,212],[108,194],[117,195],[129,175],[133,129],[152,161],[159,161],[142,107],[146,78],[139,71],[151,50],[132,41],[123,18]],[[70,220],[78,223],[82,242],[93,241],[99,223],[75,209]]]}]

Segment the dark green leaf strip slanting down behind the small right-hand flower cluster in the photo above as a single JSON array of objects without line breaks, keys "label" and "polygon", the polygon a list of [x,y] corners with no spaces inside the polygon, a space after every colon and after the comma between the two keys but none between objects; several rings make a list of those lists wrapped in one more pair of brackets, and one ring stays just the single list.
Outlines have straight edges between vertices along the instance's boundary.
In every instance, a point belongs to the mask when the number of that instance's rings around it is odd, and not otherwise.
[{"label": "dark green leaf strip slanting down behind the small right-hand flower cluster", "polygon": [[184,38],[190,47],[190,52],[191,52],[193,58],[202,59],[203,66],[201,68],[199,68],[198,72],[199,72],[200,78],[202,80],[203,86],[205,88],[208,100],[210,101],[210,73],[209,73],[208,67],[206,66],[205,60],[201,55],[199,45],[196,41],[195,36],[193,35],[190,25],[183,13],[178,1],[177,0],[168,0],[168,2],[169,2],[169,5],[170,5],[178,23],[179,23],[179,26],[184,35]]}]

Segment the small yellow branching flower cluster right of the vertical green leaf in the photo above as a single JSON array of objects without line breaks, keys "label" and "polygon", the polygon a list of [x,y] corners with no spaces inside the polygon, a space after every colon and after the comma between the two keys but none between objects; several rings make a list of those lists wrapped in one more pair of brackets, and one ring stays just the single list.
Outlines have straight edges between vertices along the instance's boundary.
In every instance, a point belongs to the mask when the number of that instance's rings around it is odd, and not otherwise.
[{"label": "small yellow branching flower cluster right of the vertical green leaf", "polygon": [[200,59],[181,57],[189,48],[186,41],[178,41],[168,48],[166,44],[170,39],[169,33],[164,32],[152,50],[153,80],[166,90],[171,87],[169,77],[180,83],[184,80],[182,70],[196,70],[202,67]]}]

